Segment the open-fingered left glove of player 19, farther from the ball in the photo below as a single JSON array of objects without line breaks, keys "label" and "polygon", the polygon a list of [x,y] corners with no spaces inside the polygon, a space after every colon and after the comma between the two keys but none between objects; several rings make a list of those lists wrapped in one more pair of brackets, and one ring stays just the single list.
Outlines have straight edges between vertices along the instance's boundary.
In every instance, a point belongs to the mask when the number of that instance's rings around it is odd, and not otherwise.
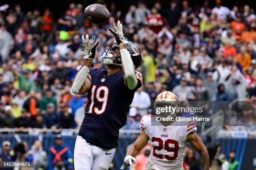
[{"label": "open-fingered left glove of player 19, farther from the ball", "polygon": [[84,35],[82,35],[82,41],[83,42],[82,42],[81,47],[85,52],[84,58],[89,58],[89,59],[92,59],[92,60],[94,59],[96,47],[99,44],[99,41],[97,41],[95,43],[95,45],[93,45],[94,40],[95,40],[95,36],[92,36],[92,39],[89,40],[89,35],[88,34],[85,36],[85,39],[84,39]]}]

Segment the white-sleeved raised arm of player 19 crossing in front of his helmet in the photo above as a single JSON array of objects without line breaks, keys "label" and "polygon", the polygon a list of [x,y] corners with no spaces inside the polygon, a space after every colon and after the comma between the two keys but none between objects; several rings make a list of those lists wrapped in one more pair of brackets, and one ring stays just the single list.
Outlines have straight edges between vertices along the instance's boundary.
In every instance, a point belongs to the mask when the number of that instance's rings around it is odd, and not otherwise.
[{"label": "white-sleeved raised arm of player 19 crossing in front of his helmet", "polygon": [[133,60],[131,59],[130,53],[128,52],[126,46],[123,43],[119,45],[119,48],[128,88],[134,89],[138,83],[138,80],[135,76]]}]

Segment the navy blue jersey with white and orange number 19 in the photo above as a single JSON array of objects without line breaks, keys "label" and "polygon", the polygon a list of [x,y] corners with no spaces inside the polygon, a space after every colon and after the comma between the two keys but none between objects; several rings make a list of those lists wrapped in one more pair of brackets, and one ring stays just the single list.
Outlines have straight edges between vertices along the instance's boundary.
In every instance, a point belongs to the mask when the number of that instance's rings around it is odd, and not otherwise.
[{"label": "navy blue jersey with white and orange number 19", "polygon": [[141,87],[142,74],[136,70],[138,84],[130,90],[124,84],[123,71],[107,75],[108,71],[90,68],[87,78],[92,86],[78,135],[87,143],[104,149],[118,146],[119,130],[127,120],[129,106],[135,91]]}]

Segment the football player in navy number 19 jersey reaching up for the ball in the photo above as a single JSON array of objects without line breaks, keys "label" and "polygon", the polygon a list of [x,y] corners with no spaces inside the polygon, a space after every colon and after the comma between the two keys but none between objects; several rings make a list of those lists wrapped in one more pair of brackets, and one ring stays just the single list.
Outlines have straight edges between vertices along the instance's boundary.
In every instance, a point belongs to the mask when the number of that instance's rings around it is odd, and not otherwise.
[{"label": "football player in navy number 19 jersey reaching up for the ball", "polygon": [[108,170],[118,147],[119,130],[127,120],[134,93],[142,85],[138,48],[123,37],[122,24],[109,28],[117,43],[102,54],[108,70],[91,67],[95,57],[95,37],[82,36],[84,63],[72,84],[75,94],[88,94],[85,115],[74,148],[75,170]]}]

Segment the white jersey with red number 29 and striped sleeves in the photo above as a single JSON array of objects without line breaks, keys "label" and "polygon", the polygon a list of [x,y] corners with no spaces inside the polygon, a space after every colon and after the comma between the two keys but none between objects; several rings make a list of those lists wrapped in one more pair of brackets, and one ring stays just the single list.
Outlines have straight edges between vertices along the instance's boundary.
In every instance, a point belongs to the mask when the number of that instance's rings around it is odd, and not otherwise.
[{"label": "white jersey with red number 29 and striped sleeves", "polygon": [[151,126],[151,118],[154,116],[143,116],[140,124],[140,128],[145,131],[152,145],[150,162],[159,170],[183,170],[186,138],[189,133],[197,130],[195,121],[174,121],[172,125],[165,127]]}]

